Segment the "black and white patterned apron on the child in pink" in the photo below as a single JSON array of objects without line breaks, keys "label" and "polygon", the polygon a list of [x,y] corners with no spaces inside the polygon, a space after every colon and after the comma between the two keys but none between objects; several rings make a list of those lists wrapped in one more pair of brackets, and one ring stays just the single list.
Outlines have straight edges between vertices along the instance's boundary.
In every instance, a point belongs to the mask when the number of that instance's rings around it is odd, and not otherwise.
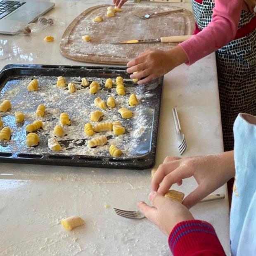
[{"label": "black and white patterned apron on the child in pink", "polygon": [[[211,22],[213,8],[212,0],[192,0],[197,32]],[[233,124],[239,112],[256,115],[255,26],[253,25],[254,28],[248,31],[248,25],[252,22],[255,24],[255,13],[242,10],[235,40],[216,51],[225,151],[234,148]],[[244,35],[245,26],[248,33]]]}]

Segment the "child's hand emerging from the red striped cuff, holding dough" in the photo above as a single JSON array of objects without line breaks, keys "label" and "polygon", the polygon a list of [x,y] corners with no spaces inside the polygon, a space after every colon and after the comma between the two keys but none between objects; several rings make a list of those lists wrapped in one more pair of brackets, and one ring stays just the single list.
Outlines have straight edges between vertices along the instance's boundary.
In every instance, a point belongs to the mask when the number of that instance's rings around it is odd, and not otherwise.
[{"label": "child's hand emerging from the red striped cuff, holding dough", "polygon": [[190,211],[183,204],[165,198],[157,192],[149,194],[149,201],[151,201],[153,206],[148,206],[145,202],[140,202],[137,206],[166,235],[169,235],[174,226],[181,221],[194,219]]}]

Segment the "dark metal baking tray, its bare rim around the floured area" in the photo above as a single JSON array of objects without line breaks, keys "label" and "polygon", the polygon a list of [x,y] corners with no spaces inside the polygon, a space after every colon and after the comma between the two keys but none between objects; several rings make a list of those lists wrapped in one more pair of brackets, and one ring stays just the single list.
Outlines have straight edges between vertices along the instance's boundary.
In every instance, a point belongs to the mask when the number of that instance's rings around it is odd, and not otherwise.
[{"label": "dark metal baking tray, its bare rim around the floured area", "polygon": [[[115,78],[116,76],[122,76],[126,79],[125,85],[127,88],[133,89],[135,85],[129,79],[129,74],[126,73],[126,67],[113,67],[113,66],[61,66],[61,65],[28,65],[28,64],[9,64],[5,66],[0,72],[0,93],[7,90],[7,84],[10,81],[19,81],[24,77],[97,77],[102,79],[102,83],[106,78]],[[54,85],[52,85],[54,86]],[[150,107],[152,113],[147,116],[147,123],[150,124],[150,129],[147,130],[144,136],[142,136],[138,145],[135,148],[135,152],[131,156],[124,156],[119,158],[113,158],[109,154],[100,156],[80,155],[80,154],[62,154],[62,152],[43,152],[37,153],[36,149],[33,152],[29,150],[12,150],[12,147],[7,146],[8,142],[0,142],[0,162],[9,163],[22,163],[22,164],[47,164],[47,165],[64,165],[64,166],[86,166],[86,167],[101,167],[101,168],[125,168],[125,169],[147,169],[151,168],[155,164],[156,157],[156,142],[157,132],[159,125],[159,113],[161,105],[161,94],[163,86],[163,77],[152,81],[147,85],[142,85],[140,90],[143,93],[148,94],[148,97],[142,100],[143,105]],[[26,88],[26,87],[24,87]],[[26,89],[24,89],[26,90]],[[102,90],[106,90],[104,85]],[[12,102],[12,95],[9,94],[9,99]],[[0,99],[1,100],[1,99]],[[16,95],[14,104],[18,104],[19,95]],[[63,111],[63,110],[62,110]],[[10,118],[5,119],[5,126],[8,126],[8,122],[14,122],[12,113],[1,113],[1,116],[9,115]],[[7,123],[6,123],[7,122]],[[23,124],[23,134],[26,138],[26,125]],[[14,138],[12,138],[15,140]],[[78,145],[85,145],[84,139],[77,142]],[[20,143],[20,142],[19,142]],[[21,142],[25,143],[24,142]],[[60,140],[62,146],[65,146],[65,139]],[[40,144],[47,147],[46,141],[41,141]]]}]

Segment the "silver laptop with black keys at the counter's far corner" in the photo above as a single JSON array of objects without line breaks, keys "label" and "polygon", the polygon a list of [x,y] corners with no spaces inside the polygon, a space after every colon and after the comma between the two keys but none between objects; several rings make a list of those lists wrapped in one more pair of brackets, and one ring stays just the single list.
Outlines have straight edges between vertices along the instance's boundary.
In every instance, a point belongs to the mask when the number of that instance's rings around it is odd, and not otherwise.
[{"label": "silver laptop with black keys at the counter's far corner", "polygon": [[0,33],[14,35],[54,6],[52,2],[0,0]]}]

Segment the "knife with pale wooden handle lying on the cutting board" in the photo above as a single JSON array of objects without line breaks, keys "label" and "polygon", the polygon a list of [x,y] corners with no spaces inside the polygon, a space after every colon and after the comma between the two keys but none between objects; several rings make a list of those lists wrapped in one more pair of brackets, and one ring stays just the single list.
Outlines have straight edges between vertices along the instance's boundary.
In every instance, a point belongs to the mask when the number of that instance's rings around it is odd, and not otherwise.
[{"label": "knife with pale wooden handle lying on the cutting board", "polygon": [[138,39],[138,40],[128,40],[121,41],[117,43],[110,43],[111,45],[123,45],[123,44],[133,44],[133,43],[180,43],[188,40],[192,35],[187,36],[164,36],[156,39]]}]

